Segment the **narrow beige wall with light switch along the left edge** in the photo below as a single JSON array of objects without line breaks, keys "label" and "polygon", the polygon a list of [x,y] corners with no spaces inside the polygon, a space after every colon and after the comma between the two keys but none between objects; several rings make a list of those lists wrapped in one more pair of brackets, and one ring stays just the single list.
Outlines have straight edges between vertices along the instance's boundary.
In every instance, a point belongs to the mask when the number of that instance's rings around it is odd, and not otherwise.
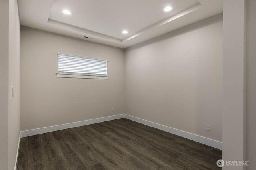
[{"label": "narrow beige wall with light switch along the left edge", "polygon": [[[16,0],[0,2],[0,169],[13,170],[20,132],[20,21]],[[14,98],[11,97],[14,87]]]}]

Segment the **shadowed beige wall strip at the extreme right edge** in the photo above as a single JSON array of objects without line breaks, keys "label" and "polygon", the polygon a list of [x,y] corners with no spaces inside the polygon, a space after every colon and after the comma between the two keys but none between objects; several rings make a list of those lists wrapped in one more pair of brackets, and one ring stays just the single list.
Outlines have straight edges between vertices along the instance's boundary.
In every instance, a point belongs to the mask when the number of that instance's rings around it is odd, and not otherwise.
[{"label": "shadowed beige wall strip at the extreme right edge", "polygon": [[246,160],[250,161],[248,170],[256,167],[256,1],[247,0],[247,115],[246,115]]}]

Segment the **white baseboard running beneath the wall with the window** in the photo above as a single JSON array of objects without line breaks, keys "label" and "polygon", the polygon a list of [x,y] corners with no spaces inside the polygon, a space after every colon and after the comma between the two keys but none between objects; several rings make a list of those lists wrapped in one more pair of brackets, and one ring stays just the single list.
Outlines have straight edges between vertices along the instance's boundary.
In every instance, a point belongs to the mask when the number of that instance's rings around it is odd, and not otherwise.
[{"label": "white baseboard running beneath the wall with the window", "polygon": [[124,118],[124,114],[121,115],[113,115],[113,116],[108,116],[108,117],[101,117],[101,118],[96,118],[96,119],[90,119],[86,121],[79,121],[79,122],[73,122],[73,123],[66,123],[62,125],[55,125],[51,127],[44,127],[44,128],[36,128],[32,130],[25,130],[21,132],[21,138],[27,137],[27,136],[33,136],[36,134],[43,134],[43,133],[48,133],[48,132],[54,132],[57,130],[63,130],[67,128],[73,128],[73,127],[80,127],[84,125],[90,125],[94,123],[100,123],[100,122],[105,122],[105,121],[111,121],[115,119],[120,119]]}]

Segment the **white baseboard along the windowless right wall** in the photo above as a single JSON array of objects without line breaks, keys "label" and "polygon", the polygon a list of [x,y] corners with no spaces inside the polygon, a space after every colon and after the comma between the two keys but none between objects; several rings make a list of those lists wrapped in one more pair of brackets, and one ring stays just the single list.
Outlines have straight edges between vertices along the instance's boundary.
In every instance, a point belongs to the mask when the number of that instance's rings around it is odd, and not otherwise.
[{"label": "white baseboard along the windowless right wall", "polygon": [[124,114],[124,118],[222,150],[222,142]]}]

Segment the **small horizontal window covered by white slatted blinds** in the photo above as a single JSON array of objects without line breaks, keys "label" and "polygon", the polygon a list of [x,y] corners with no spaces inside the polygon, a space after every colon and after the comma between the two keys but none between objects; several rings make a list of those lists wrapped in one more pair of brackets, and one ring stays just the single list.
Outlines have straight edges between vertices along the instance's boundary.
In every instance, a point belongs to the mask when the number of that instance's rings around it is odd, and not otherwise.
[{"label": "small horizontal window covered by white slatted blinds", "polygon": [[58,53],[57,77],[108,79],[108,61]]}]

